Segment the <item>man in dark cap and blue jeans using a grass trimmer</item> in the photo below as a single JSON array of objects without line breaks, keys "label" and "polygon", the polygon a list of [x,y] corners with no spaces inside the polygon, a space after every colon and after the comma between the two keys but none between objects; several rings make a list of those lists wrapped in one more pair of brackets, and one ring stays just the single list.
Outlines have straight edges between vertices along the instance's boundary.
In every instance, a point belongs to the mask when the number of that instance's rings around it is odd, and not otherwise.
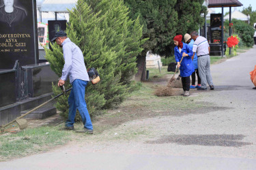
[{"label": "man in dark cap and blue jeans using a grass trimmer", "polygon": [[74,118],[76,116],[76,109],[78,109],[84,127],[83,130],[76,132],[92,134],[93,126],[85,103],[85,87],[89,82],[89,75],[85,67],[83,52],[76,44],[70,41],[64,31],[57,32],[51,41],[56,41],[56,43],[63,48],[65,64],[58,86],[63,86],[68,76],[70,84],[72,84],[72,90],[68,97],[68,105],[70,106],[68,120],[66,120],[64,129],[74,130]]}]

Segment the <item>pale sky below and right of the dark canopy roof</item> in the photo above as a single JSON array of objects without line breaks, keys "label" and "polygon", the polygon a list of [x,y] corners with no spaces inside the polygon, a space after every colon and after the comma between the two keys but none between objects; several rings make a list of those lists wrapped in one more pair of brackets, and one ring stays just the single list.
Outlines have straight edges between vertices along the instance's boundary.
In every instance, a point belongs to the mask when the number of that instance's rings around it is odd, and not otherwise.
[{"label": "pale sky below and right of the dark canopy roof", "polygon": [[[243,8],[248,7],[250,4],[252,6],[253,11],[256,11],[256,1],[255,0],[238,0],[242,3],[242,7],[236,7],[236,10],[242,12]],[[221,13],[221,7],[213,7],[212,9],[215,10],[215,13]],[[233,11],[235,7],[231,7],[231,11]],[[229,7],[224,7],[224,14],[229,12]]]}]

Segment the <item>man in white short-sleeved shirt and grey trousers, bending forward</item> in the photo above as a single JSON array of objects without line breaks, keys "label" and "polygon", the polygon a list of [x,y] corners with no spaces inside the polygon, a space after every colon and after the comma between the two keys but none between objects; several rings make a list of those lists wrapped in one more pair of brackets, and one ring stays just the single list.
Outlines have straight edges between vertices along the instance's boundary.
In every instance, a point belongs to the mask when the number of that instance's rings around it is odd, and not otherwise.
[{"label": "man in white short-sleeved shirt and grey trousers, bending forward", "polygon": [[211,90],[214,90],[214,84],[212,82],[212,75],[210,72],[210,46],[208,44],[208,40],[205,37],[201,37],[198,35],[196,31],[190,33],[192,39],[194,39],[193,44],[193,56],[197,53],[197,63],[198,63],[198,71],[201,78],[201,88],[197,88],[197,90],[207,90],[207,83],[210,86]]}]

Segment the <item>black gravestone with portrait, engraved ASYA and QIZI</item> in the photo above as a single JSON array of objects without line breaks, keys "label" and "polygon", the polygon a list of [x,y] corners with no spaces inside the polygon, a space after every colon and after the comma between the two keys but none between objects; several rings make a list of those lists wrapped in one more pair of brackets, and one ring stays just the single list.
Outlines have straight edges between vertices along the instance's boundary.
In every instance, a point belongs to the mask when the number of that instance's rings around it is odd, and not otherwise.
[{"label": "black gravestone with portrait, engraved ASYA and QIZI", "polygon": [[36,0],[0,0],[0,69],[38,63]]}]

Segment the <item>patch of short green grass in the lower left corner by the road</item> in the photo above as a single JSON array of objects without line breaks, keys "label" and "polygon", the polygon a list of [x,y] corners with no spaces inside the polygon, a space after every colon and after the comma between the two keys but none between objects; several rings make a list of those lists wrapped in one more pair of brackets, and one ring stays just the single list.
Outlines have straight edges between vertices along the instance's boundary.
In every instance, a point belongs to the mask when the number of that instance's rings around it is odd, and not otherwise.
[{"label": "patch of short green grass in the lower left corner by the road", "polygon": [[0,135],[0,161],[36,154],[70,141],[70,132],[58,129],[59,126],[40,126],[16,134],[3,133]]}]

